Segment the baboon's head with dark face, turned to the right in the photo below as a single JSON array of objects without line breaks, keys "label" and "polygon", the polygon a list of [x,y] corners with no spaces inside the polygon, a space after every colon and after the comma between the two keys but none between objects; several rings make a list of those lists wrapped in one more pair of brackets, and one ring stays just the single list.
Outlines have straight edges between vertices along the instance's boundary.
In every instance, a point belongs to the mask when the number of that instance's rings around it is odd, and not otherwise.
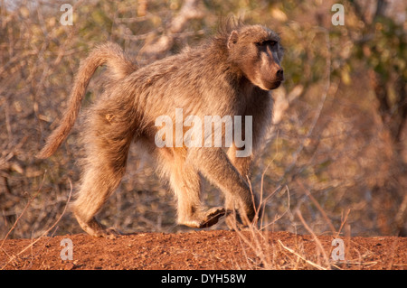
[{"label": "baboon's head with dark face, turned to the right", "polygon": [[260,25],[241,25],[229,33],[229,60],[253,85],[264,90],[278,88],[284,80],[280,66],[283,48],[279,35]]}]

